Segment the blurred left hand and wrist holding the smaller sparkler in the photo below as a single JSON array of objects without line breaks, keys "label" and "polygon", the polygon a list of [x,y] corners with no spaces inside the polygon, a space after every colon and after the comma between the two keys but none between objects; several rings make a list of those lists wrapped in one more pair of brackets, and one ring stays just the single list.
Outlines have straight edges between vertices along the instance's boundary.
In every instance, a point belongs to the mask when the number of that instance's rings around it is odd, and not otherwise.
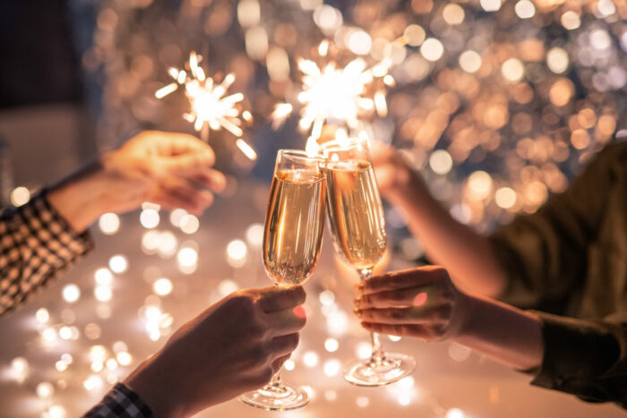
[{"label": "blurred left hand and wrist holding the smaller sparkler", "polygon": [[103,213],[143,201],[198,214],[225,185],[224,175],[210,168],[213,161],[210,146],[193,136],[142,132],[58,183],[48,200],[77,232]]}]

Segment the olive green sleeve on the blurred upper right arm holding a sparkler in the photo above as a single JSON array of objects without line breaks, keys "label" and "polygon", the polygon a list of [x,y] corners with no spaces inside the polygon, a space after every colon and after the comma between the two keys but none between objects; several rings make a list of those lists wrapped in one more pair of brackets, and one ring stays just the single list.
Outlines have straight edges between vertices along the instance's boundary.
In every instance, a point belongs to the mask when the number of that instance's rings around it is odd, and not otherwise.
[{"label": "olive green sleeve on the blurred upper right arm holding a sparkler", "polygon": [[588,270],[589,245],[597,238],[606,200],[615,187],[613,170],[625,149],[624,144],[618,153],[615,146],[606,148],[566,192],[488,237],[508,280],[499,299],[523,308],[563,312],[577,297]]}]

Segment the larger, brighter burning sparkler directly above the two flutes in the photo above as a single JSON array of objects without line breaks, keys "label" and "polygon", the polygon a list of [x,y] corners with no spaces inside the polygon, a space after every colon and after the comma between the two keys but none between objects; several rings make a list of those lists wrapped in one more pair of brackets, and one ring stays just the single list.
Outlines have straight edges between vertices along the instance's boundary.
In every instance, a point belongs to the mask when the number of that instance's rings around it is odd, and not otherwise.
[{"label": "larger, brighter burning sparkler directly above the two flutes", "polygon": [[[329,41],[322,41],[318,53],[322,57],[328,55]],[[303,90],[298,94],[298,101],[303,105],[301,129],[311,129],[311,138],[316,140],[325,123],[346,124],[348,128],[357,129],[374,112],[387,115],[385,86],[394,83],[388,73],[390,65],[386,60],[366,68],[363,58],[355,58],[342,68],[335,60],[322,66],[313,60],[298,60],[298,68],[303,73]],[[277,105],[272,114],[273,126],[282,124],[292,110],[288,103]]]}]

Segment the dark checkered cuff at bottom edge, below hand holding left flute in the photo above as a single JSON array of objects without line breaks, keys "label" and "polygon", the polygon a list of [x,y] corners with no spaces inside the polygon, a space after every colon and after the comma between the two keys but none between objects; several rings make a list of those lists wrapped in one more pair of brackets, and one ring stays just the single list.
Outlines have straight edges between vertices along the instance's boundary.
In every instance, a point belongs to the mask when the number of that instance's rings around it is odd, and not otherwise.
[{"label": "dark checkered cuff at bottom edge, below hand holding left flute", "polygon": [[117,383],[83,418],[152,418],[150,407],[131,388]]}]

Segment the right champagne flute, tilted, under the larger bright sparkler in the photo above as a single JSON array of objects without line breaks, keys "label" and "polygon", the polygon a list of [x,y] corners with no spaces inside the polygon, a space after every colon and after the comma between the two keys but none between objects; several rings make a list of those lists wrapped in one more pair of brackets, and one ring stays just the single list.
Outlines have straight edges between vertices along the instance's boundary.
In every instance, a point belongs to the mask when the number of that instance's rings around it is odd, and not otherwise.
[{"label": "right champagne flute, tilted, under the larger bright sparkler", "polygon": [[[370,277],[385,252],[387,238],[368,140],[342,138],[326,142],[322,153],[326,158],[327,204],[335,251],[361,279]],[[379,336],[370,336],[370,358],[351,362],[344,379],[357,386],[382,386],[414,371],[416,362],[412,357],[385,353]]]}]

